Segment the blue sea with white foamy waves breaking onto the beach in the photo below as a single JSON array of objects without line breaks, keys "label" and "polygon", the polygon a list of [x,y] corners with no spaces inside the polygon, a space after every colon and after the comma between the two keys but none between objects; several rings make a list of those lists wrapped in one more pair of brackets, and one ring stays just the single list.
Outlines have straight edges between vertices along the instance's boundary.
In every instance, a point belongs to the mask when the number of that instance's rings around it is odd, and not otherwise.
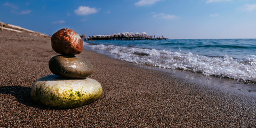
[{"label": "blue sea with white foamy waves breaking onto the beach", "polygon": [[256,39],[84,41],[84,49],[165,70],[256,83]]}]

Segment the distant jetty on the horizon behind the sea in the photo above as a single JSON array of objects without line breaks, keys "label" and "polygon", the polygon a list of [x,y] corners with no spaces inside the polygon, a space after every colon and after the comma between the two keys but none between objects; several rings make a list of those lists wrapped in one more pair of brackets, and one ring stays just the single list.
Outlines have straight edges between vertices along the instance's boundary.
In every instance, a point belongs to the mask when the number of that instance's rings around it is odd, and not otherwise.
[{"label": "distant jetty on the horizon behind the sea", "polygon": [[139,33],[118,33],[118,34],[111,34],[111,35],[96,35],[96,36],[89,36],[88,38],[85,37],[85,35],[80,35],[83,39],[87,41],[93,41],[93,40],[161,40],[161,39],[168,39],[164,36],[156,37],[154,36],[148,36],[147,33],[143,32],[141,34]]}]

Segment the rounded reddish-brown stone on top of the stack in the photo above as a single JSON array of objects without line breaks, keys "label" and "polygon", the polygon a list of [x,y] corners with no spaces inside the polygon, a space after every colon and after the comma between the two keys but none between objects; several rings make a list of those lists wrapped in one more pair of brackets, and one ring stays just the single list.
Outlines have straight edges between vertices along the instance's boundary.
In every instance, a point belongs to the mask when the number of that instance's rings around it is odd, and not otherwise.
[{"label": "rounded reddish-brown stone on top of the stack", "polygon": [[63,28],[52,35],[52,49],[60,54],[79,54],[83,50],[82,38],[73,30]]}]

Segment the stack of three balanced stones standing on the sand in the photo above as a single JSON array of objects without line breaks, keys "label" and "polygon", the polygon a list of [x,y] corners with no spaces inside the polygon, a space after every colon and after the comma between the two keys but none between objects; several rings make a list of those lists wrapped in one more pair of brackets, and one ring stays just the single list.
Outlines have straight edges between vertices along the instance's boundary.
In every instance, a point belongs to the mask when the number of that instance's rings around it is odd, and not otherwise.
[{"label": "stack of three balanced stones standing on the sand", "polygon": [[52,49],[60,53],[51,58],[49,68],[55,75],[38,79],[31,88],[34,101],[54,108],[75,108],[98,99],[102,87],[94,79],[90,61],[78,58],[83,50],[82,38],[73,30],[63,28],[52,35]]}]

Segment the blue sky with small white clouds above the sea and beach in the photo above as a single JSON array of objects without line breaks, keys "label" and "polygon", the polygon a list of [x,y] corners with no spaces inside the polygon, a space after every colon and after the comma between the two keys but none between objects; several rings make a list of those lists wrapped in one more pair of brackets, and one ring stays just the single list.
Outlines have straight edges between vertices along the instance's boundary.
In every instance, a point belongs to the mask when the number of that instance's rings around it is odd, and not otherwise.
[{"label": "blue sky with small white clouds above the sea and beach", "polygon": [[255,0],[1,0],[0,11],[2,22],[49,35],[70,28],[87,36],[256,38]]}]

